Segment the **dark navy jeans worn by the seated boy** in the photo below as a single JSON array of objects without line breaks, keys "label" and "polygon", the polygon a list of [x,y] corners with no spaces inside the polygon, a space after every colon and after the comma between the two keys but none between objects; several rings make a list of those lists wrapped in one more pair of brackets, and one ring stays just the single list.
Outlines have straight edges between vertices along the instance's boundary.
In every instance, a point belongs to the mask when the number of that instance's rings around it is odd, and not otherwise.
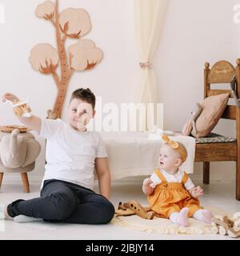
[{"label": "dark navy jeans worn by the seated boy", "polygon": [[43,184],[40,198],[14,201],[7,212],[10,217],[23,214],[46,222],[105,224],[114,217],[114,206],[93,190],[49,179]]}]

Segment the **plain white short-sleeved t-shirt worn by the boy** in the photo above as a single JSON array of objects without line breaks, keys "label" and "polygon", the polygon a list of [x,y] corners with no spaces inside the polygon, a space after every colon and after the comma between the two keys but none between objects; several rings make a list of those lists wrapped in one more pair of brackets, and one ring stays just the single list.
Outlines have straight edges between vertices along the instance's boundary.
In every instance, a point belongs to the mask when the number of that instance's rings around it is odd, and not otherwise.
[{"label": "plain white short-sleeved t-shirt worn by the boy", "polygon": [[39,136],[46,138],[47,163],[42,185],[54,178],[94,189],[95,158],[107,157],[100,134],[74,130],[61,119],[42,119]]}]

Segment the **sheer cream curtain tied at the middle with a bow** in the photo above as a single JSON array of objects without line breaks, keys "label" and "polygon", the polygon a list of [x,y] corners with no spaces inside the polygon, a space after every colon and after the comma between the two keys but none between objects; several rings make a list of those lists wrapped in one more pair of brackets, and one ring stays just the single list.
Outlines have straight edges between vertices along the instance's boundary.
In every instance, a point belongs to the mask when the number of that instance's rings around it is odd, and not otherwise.
[{"label": "sheer cream curtain tied at the middle with a bow", "polygon": [[[135,0],[134,2],[139,70],[141,73],[136,102],[154,103],[154,111],[146,113],[146,122],[139,123],[140,127],[145,127],[145,130],[152,130],[156,126],[158,90],[152,62],[162,32],[167,2],[168,0]],[[144,119],[140,122],[144,122]]]}]

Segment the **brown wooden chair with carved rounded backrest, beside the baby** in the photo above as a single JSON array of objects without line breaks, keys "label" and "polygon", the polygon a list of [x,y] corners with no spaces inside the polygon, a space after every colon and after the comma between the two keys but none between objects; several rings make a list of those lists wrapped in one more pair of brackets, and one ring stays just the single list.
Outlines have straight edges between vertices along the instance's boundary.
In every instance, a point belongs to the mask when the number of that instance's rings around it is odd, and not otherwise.
[{"label": "brown wooden chair with carved rounded backrest, beside the baby", "polygon": [[[211,84],[230,83],[236,75],[237,94],[240,97],[240,58],[237,59],[237,66],[234,68],[230,62],[216,62],[210,69],[210,64],[206,62],[204,70],[204,98],[230,93],[231,90],[211,90]],[[234,161],[236,162],[236,199],[240,200],[240,108],[237,106],[226,106],[222,118],[236,120],[236,139],[223,140],[224,142],[206,142],[196,144],[195,162],[203,162],[203,183],[210,182],[210,162]]]}]

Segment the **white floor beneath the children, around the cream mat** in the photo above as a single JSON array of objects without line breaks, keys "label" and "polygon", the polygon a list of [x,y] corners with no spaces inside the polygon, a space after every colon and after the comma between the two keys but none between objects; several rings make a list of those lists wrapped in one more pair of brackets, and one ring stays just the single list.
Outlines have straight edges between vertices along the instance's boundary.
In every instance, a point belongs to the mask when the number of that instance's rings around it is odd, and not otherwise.
[{"label": "white floor beneath the children, around the cream mat", "polygon": [[[146,197],[142,194],[142,178],[134,179],[134,182],[126,179],[113,182],[111,201],[114,206],[118,202],[126,202],[136,199],[146,205]],[[201,198],[202,205],[213,206],[220,210],[234,214],[240,211],[240,202],[235,200],[235,186],[232,183],[212,182],[210,186],[202,186],[205,194]],[[38,197],[39,184],[31,184],[30,194],[22,192],[22,184],[2,184],[0,203],[8,203],[18,198]],[[202,235],[159,235],[147,234],[142,231],[126,230],[114,225],[77,225],[60,223],[15,223],[11,220],[0,221],[0,240],[15,239],[81,239],[81,240],[159,240],[159,239],[230,239],[219,234]]]}]

